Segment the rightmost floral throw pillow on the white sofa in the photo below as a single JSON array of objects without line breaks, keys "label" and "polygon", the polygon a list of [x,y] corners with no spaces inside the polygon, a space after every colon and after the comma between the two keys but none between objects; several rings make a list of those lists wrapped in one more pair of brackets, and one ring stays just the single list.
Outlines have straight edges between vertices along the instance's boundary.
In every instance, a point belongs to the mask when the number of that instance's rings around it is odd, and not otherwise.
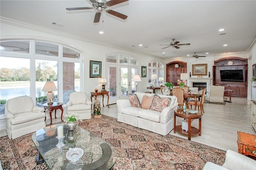
[{"label": "rightmost floral throw pillow on the white sofa", "polygon": [[166,98],[166,97],[161,98],[158,95],[154,95],[154,99],[149,109],[153,111],[162,112],[164,108],[168,107],[169,103],[170,103],[169,98]]}]

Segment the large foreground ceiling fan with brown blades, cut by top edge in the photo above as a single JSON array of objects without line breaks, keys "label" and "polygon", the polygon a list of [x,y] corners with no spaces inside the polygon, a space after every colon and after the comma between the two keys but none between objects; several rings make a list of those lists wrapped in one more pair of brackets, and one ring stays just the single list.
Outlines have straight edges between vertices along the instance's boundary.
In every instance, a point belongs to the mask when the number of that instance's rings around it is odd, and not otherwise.
[{"label": "large foreground ceiling fan with brown blades, cut by top edge", "polygon": [[90,0],[92,2],[92,7],[78,7],[78,8],[66,8],[68,11],[73,11],[73,10],[91,10],[91,9],[97,9],[97,12],[94,16],[94,23],[100,22],[100,15],[102,10],[106,11],[108,14],[114,15],[118,18],[121,18],[125,20],[128,16],[121,14],[119,12],[116,12],[114,10],[109,10],[107,9],[110,6],[120,4],[122,2],[126,2],[128,0],[110,0],[106,2],[106,0]]}]

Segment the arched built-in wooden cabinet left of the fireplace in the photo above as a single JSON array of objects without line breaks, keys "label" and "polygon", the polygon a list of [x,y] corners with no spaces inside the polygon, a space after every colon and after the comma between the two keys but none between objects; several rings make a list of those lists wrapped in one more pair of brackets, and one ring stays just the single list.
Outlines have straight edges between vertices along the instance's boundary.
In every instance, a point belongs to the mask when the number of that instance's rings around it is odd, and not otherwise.
[{"label": "arched built-in wooden cabinet left of the fireplace", "polygon": [[177,86],[180,79],[180,73],[187,72],[187,63],[182,61],[172,61],[166,64],[166,82],[171,82]]}]

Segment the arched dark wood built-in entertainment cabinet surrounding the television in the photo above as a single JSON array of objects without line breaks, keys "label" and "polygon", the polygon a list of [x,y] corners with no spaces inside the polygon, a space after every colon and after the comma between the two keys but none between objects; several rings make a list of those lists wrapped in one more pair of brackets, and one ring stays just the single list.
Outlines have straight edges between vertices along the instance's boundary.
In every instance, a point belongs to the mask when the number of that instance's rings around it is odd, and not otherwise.
[{"label": "arched dark wood built-in entertainment cabinet surrounding the television", "polygon": [[[228,65],[229,61],[233,61],[233,65]],[[214,61],[212,66],[212,83],[213,85],[222,85],[225,89],[233,90],[232,97],[247,97],[247,73],[248,63],[247,59],[240,57],[225,57]],[[236,81],[221,81],[220,70],[238,70],[243,71],[243,82]],[[225,96],[228,96],[228,92],[224,92]]]}]

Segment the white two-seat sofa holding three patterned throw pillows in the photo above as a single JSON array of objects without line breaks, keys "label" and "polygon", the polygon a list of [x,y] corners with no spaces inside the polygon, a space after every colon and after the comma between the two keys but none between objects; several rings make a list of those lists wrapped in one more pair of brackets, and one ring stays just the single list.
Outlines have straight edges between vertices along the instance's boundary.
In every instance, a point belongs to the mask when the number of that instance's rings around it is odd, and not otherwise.
[{"label": "white two-seat sofa holding three patterned throw pillows", "polygon": [[167,96],[160,94],[135,92],[140,103],[144,95],[159,97],[168,97],[171,99],[170,105],[162,110],[162,112],[132,107],[129,99],[120,99],[116,102],[118,107],[117,121],[155,132],[161,135],[167,135],[174,127],[174,110],[177,109],[178,103],[175,96]]}]

